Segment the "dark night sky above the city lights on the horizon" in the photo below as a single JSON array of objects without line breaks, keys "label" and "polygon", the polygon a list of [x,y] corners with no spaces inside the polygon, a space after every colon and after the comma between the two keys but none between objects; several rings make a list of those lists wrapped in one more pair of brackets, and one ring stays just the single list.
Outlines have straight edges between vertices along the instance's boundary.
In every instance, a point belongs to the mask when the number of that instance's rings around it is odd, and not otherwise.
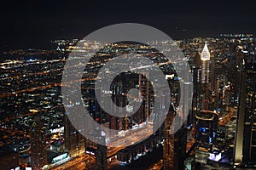
[{"label": "dark night sky above the city lights on the horizon", "polygon": [[[104,2],[104,3],[102,3]],[[253,1],[9,1],[0,4],[0,48],[47,48],[123,22],[154,26],[173,39],[256,34]]]}]

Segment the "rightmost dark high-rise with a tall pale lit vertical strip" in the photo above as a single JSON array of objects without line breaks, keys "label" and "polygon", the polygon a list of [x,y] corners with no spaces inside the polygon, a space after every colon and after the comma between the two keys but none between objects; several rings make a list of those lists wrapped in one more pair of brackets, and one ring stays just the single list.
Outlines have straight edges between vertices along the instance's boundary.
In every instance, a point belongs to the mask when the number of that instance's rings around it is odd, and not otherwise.
[{"label": "rightmost dark high-rise with a tall pale lit vertical strip", "polygon": [[256,71],[253,65],[241,65],[239,105],[234,150],[235,166],[256,164]]}]

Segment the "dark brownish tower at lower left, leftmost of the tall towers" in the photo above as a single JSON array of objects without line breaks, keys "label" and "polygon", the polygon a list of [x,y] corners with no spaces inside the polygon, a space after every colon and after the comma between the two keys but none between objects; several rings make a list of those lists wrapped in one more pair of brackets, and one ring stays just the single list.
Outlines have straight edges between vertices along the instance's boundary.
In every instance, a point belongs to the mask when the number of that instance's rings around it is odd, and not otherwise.
[{"label": "dark brownish tower at lower left, leftmost of the tall towers", "polygon": [[47,165],[45,127],[36,116],[31,128],[31,156],[33,169],[41,169]]}]

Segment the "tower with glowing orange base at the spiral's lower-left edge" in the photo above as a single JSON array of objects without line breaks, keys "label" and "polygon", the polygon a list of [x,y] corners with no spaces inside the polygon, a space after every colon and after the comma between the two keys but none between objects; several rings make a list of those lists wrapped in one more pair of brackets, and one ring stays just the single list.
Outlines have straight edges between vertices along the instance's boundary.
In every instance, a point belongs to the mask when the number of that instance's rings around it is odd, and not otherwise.
[{"label": "tower with glowing orange base at the spiral's lower-left edge", "polygon": [[70,157],[79,156],[85,151],[84,136],[73,127],[67,115],[65,115],[64,119],[65,150],[68,151]]}]

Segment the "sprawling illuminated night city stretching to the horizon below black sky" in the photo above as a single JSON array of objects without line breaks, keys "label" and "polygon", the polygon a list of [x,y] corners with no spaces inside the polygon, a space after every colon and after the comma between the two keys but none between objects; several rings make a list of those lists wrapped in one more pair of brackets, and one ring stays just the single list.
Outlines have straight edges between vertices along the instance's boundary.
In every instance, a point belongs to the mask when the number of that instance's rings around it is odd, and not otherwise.
[{"label": "sprawling illuminated night city stretching to the horizon below black sky", "polygon": [[[157,157],[154,158],[154,162],[143,168],[196,169],[216,167],[217,164],[217,167],[235,165],[232,161],[234,152],[232,145],[239,146],[241,143],[239,140],[236,143],[235,138],[236,127],[239,129],[236,126],[236,117],[242,111],[239,109],[240,100],[244,100],[238,99],[239,96],[235,93],[236,90],[241,89],[236,74],[239,74],[242,65],[246,66],[248,71],[253,71],[255,64],[253,35],[227,34],[220,38],[197,37],[175,42],[179,48],[182,48],[184,58],[181,60],[188,61],[194,80],[192,107],[181,110],[178,110],[178,102],[185,102],[184,96],[191,93],[192,89],[188,88],[189,82],[184,82],[183,78],[176,75],[173,68],[169,67],[171,63],[166,62],[163,55],[171,49],[172,41],[153,41],[149,42],[151,44],[149,46],[137,42],[116,42],[101,48],[85,67],[81,88],[83,89],[83,103],[90,116],[104,127],[120,130],[119,133],[105,131],[104,139],[106,138],[107,146],[96,144],[98,139],[95,140],[95,137],[91,138],[91,141],[80,135],[81,129],[73,127],[68,121],[68,110],[65,111],[63,108],[61,87],[65,86],[70,92],[75,93],[73,83],[61,83],[63,66],[67,62],[68,54],[72,49],[82,51],[84,48],[93,50],[101,47],[100,42],[81,40],[82,46],[75,48],[78,41],[77,39],[55,40],[52,43],[53,49],[49,51],[26,49],[10,51],[10,54],[19,57],[14,60],[4,59],[0,64],[3,72],[1,78],[4,80],[1,85],[4,93],[0,96],[2,102],[0,134],[3,137],[0,144],[4,153],[13,150],[9,154],[14,154],[13,157],[19,162],[2,156],[3,159],[11,160],[15,166],[21,164],[29,167],[34,166],[37,159],[44,158],[45,160],[47,156],[47,164],[44,160],[38,161],[43,162],[38,167],[51,169],[58,167],[115,169],[121,166],[137,168],[137,162],[143,159],[148,160],[150,156]],[[164,50],[158,53],[151,46]],[[152,95],[153,87],[149,85],[150,83],[148,84],[146,78],[148,74],[144,77],[136,72],[124,72],[113,80],[110,87],[112,93],[108,90],[104,91],[105,94],[112,94],[113,102],[117,102],[117,105],[123,105],[131,101],[130,97],[137,99],[135,96],[128,95],[129,89],[139,89],[144,98],[143,105],[137,113],[116,118],[109,116],[108,112],[102,111],[99,107],[99,103],[103,102],[104,105],[105,100],[105,97],[97,100],[95,93],[102,90],[93,88],[99,68],[110,62],[113,57],[123,53],[140,54],[154,60],[165,73],[166,81],[172,89],[169,116],[154,134],[152,131],[155,128],[154,122],[145,121],[145,118],[155,115],[154,121],[160,121],[159,111],[166,109],[168,96],[160,95],[160,100],[157,100],[160,105],[157,106],[156,111],[152,111],[155,94]],[[31,58],[33,55],[37,57]],[[79,56],[75,55],[73,59],[79,59]],[[99,79],[102,78],[104,77]],[[251,84],[252,80],[250,80]],[[180,87],[177,82],[181,82]],[[179,90],[183,90],[185,94],[181,95]],[[251,92],[253,93],[253,89]],[[250,93],[246,95],[248,98],[253,96]],[[69,100],[67,107],[76,108],[78,105],[80,105],[79,100]],[[127,114],[133,110],[131,105],[128,106]],[[172,123],[182,121],[186,110],[189,110],[188,121],[177,133],[170,133],[173,130]],[[111,111],[114,109],[112,108]],[[36,115],[41,117],[42,122],[42,124],[38,123],[41,124],[38,127],[34,125],[38,122],[37,119],[34,121]],[[178,115],[177,119],[172,122],[175,115]],[[41,140],[32,138],[33,127],[36,127],[38,132],[42,132]],[[91,130],[90,134],[96,135],[97,131]],[[112,136],[108,135],[110,133]],[[35,147],[30,149],[30,146],[41,147],[41,150],[44,150],[42,154],[44,154],[40,156],[40,150]],[[32,153],[29,150],[33,150]],[[240,156],[236,154],[236,160],[239,160],[241,155],[241,152]],[[75,158],[76,156],[78,158]],[[247,162],[241,161],[235,166],[252,166]]]}]

